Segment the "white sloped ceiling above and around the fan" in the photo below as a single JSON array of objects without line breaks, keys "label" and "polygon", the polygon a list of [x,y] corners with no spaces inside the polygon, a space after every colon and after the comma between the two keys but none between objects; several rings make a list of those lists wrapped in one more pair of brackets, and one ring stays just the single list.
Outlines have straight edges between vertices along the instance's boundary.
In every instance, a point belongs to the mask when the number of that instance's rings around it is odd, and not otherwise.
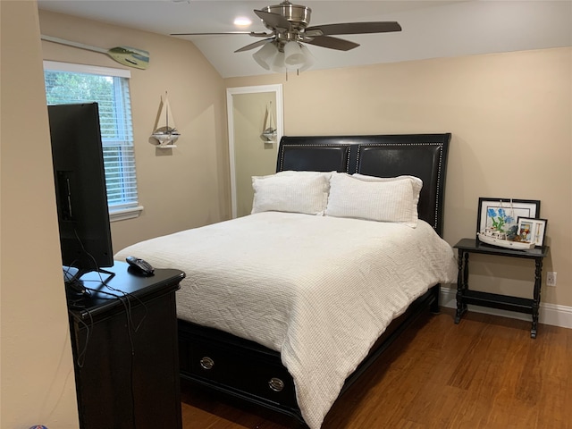
[{"label": "white sloped ceiling above and around the fan", "polygon": [[[252,11],[280,1],[38,0],[38,7],[169,35],[240,30],[232,24],[239,15],[253,21],[248,31],[266,31]],[[308,46],[315,56],[315,70],[572,46],[572,0],[299,0],[292,3],[312,9],[312,26],[398,21],[403,29],[396,33],[341,36],[361,45],[347,52]],[[233,53],[258,38],[248,35],[180,38],[192,40],[223,78],[271,72],[252,59],[256,50]],[[150,58],[152,63],[152,52]]]}]

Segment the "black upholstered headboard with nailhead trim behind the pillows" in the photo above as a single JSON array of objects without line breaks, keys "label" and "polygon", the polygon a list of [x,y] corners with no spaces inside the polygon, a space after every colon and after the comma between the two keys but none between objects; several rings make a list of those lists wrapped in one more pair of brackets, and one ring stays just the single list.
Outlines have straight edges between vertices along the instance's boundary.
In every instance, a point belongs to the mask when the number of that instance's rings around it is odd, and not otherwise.
[{"label": "black upholstered headboard with nailhead trim behind the pillows", "polygon": [[276,171],[402,174],[423,181],[419,218],[442,236],[443,195],[450,133],[387,136],[290,137],[280,140]]}]

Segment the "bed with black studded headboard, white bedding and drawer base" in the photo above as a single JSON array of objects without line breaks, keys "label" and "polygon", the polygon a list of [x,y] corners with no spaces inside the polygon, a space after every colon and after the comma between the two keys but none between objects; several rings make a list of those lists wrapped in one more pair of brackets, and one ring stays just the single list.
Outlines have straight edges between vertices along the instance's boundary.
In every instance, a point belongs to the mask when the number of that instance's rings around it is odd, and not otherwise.
[{"label": "bed with black studded headboard, white bedding and drawer base", "polygon": [[[454,282],[440,238],[449,143],[450,133],[283,137],[277,173],[253,178],[253,214],[118,252],[187,273],[181,377],[319,428],[417,315],[439,310],[440,283]],[[412,195],[386,213],[398,188]]]}]

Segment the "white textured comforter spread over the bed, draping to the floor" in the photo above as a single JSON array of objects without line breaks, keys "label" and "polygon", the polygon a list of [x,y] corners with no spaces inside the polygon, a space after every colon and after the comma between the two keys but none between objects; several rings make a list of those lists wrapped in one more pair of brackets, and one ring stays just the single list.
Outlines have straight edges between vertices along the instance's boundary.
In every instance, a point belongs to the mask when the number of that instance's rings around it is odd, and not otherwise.
[{"label": "white textured comforter spread over the bed, draping to the floor", "polygon": [[280,351],[312,429],[391,320],[456,276],[450,245],[425,222],[277,212],[143,241],[115,259],[130,255],[187,273],[180,318]]}]

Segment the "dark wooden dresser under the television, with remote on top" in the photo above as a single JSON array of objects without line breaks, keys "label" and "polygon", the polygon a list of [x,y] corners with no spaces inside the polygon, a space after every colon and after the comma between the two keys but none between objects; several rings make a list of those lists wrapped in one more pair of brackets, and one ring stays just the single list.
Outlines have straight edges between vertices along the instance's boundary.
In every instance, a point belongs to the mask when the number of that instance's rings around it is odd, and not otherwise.
[{"label": "dark wooden dresser under the television, with remote on top", "polygon": [[[90,296],[68,294],[81,429],[181,429],[175,290],[185,273],[144,277],[116,262]],[[101,273],[105,279],[109,274]]]}]

